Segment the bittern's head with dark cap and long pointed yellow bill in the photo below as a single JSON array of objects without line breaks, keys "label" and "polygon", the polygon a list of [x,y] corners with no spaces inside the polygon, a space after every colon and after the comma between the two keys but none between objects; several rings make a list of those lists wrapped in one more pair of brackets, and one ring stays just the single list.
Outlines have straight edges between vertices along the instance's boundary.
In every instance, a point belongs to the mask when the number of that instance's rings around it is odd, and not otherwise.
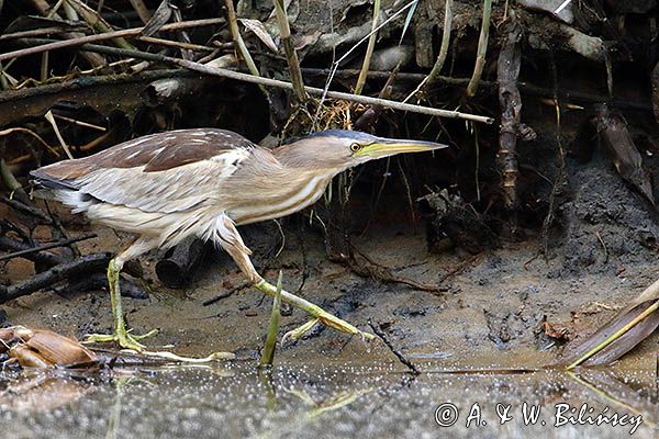
[{"label": "bittern's head with dark cap and long pointed yellow bill", "polygon": [[280,147],[291,164],[317,168],[351,168],[369,160],[402,153],[424,153],[447,148],[447,145],[425,140],[378,137],[358,131],[327,130]]}]

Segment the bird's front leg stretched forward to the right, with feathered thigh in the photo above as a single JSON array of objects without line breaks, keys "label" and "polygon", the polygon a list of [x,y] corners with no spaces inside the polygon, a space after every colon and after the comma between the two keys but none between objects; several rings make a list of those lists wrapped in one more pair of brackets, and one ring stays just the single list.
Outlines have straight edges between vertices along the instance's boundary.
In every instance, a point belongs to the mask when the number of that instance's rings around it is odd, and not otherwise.
[{"label": "bird's front leg stretched forward to the right, with feathered thigh", "polygon": [[[256,288],[265,294],[275,296],[277,294],[277,286],[266,281],[256,271],[252,263],[252,260],[249,259],[249,255],[252,255],[252,251],[243,243],[243,238],[238,234],[238,230],[235,228],[233,221],[228,216],[224,216],[223,226],[224,227],[222,227],[222,229],[219,230],[222,238],[219,244],[222,246],[222,248],[226,250],[226,252],[231,255],[233,260],[241,268],[241,271],[243,271],[247,279],[249,279],[249,282],[252,282],[254,288]],[[357,329],[349,323],[336,317],[331,313],[327,313],[325,309],[321,308],[317,305],[314,305],[309,301],[305,301],[302,297],[289,293],[288,291],[281,290],[281,300],[290,303],[291,305],[302,311],[305,311],[312,317],[316,318],[320,323],[330,326],[336,330],[351,335],[359,335],[362,338],[375,338],[372,334],[364,333]]]}]

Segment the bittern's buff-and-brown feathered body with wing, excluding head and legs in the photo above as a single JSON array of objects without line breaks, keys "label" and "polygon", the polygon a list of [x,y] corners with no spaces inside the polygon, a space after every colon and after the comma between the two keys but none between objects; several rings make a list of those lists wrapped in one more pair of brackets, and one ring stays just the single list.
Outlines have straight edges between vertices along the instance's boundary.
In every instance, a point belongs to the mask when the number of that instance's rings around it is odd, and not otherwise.
[{"label": "bittern's buff-and-brown feathered body with wing, excluding head and legs", "polygon": [[[343,170],[317,172],[308,169],[314,161],[297,162],[302,178],[292,180],[286,151],[281,158],[228,131],[180,130],[46,166],[32,176],[75,213],[167,248],[189,235],[221,244],[223,216],[242,225],[297,212],[314,203]],[[250,171],[241,171],[242,165]]]}]

